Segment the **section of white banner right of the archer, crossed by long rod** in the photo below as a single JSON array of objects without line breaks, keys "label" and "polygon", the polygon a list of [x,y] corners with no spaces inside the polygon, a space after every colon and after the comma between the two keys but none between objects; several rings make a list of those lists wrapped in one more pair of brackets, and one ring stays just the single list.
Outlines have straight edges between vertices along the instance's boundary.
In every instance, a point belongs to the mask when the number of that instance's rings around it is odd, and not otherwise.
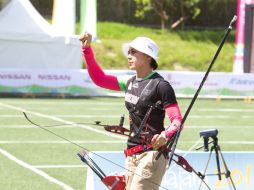
[{"label": "section of white banner right of the archer, crossed by long rod", "polygon": [[[177,95],[194,95],[203,77],[203,72],[161,72],[174,87]],[[203,96],[254,96],[253,74],[212,72],[203,85]]]}]

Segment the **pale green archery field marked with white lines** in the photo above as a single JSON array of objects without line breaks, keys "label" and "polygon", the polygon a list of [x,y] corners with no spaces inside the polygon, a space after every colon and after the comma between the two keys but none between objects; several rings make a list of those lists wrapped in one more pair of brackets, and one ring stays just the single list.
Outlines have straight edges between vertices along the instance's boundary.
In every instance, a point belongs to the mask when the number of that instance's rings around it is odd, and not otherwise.
[{"label": "pale green archery field marked with white lines", "polygon": [[[190,99],[178,100],[184,114]],[[38,168],[48,175],[60,180],[76,190],[84,189],[87,168],[50,168],[48,165],[84,165],[76,155],[80,150],[70,143],[61,141],[53,134],[28,123],[22,112],[41,125],[59,124],[57,119],[77,123],[93,123],[96,120],[104,124],[118,124],[120,116],[126,115],[125,126],[128,126],[127,111],[123,98],[88,98],[88,99],[0,99],[0,149],[32,165],[45,166]],[[3,105],[2,105],[3,104]],[[6,105],[14,107],[7,108]],[[204,129],[217,128],[219,144],[223,151],[254,151],[253,142],[254,103],[242,100],[203,100],[198,99],[185,123],[177,148],[189,150],[197,140],[199,132]],[[36,113],[45,117],[36,116]],[[50,118],[53,117],[53,118]],[[166,125],[169,121],[165,120]],[[89,125],[104,132],[99,126]],[[78,143],[90,151],[122,151],[125,140],[101,134],[78,126],[52,127],[48,130]],[[118,141],[118,143],[104,143]],[[12,142],[12,143],[11,143]],[[97,142],[97,143],[94,143]],[[232,144],[232,142],[235,142]],[[112,163],[109,163],[112,164]],[[61,189],[34,172],[21,167],[0,153],[0,189]],[[121,172],[121,171],[119,171]]]}]

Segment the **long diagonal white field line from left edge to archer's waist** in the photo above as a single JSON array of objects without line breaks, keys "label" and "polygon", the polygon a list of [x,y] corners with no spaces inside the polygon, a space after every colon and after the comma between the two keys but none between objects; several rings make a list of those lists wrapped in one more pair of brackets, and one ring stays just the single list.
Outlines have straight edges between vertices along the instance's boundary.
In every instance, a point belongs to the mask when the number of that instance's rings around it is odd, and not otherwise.
[{"label": "long diagonal white field line from left edge to archer's waist", "polygon": [[23,108],[20,108],[20,107],[16,107],[16,106],[4,104],[4,103],[0,103],[0,106],[8,108],[8,109],[17,110],[17,111],[20,111],[20,112],[26,112],[26,113],[29,113],[29,114],[32,114],[32,115],[36,115],[38,117],[52,119],[54,121],[58,121],[58,122],[61,122],[61,123],[64,123],[64,124],[78,126],[80,128],[84,128],[84,129],[87,129],[87,130],[90,130],[90,131],[93,131],[93,132],[96,132],[96,133],[100,133],[100,134],[103,134],[103,135],[111,136],[111,137],[114,137],[114,138],[126,139],[126,137],[122,137],[120,135],[111,134],[109,132],[104,132],[102,130],[98,130],[98,129],[94,129],[93,127],[89,127],[87,125],[77,124],[75,122],[67,121],[67,120],[64,120],[64,119],[61,119],[61,118],[58,118],[58,117],[55,117],[55,116],[50,116],[50,115],[42,114],[42,113],[39,113],[39,112],[29,111],[29,110],[26,110],[26,109],[23,109]]}]

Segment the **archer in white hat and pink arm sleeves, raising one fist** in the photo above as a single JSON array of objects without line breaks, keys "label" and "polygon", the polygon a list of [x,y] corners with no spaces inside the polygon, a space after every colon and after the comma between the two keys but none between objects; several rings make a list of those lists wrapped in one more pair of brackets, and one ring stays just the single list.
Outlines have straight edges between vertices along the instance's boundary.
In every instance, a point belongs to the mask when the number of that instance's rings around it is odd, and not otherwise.
[{"label": "archer in white hat and pink arm sleeves, raising one fist", "polygon": [[[125,80],[107,75],[96,63],[92,36],[80,37],[86,67],[93,82],[106,89],[125,91],[129,111],[130,134],[124,150],[126,190],[157,190],[166,171],[168,150],[155,159],[181,125],[182,116],[172,86],[155,70],[158,67],[158,46],[147,37],[137,37],[124,44],[124,54],[136,75]],[[165,130],[165,114],[171,125]],[[142,177],[141,177],[142,176]]]}]

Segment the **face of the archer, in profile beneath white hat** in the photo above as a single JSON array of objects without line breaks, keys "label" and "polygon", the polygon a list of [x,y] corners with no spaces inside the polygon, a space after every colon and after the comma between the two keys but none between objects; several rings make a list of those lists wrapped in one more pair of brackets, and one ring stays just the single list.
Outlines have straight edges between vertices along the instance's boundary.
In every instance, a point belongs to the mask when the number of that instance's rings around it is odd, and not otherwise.
[{"label": "face of the archer, in profile beneath white hat", "polygon": [[151,58],[140,52],[137,51],[136,49],[130,47],[129,51],[128,51],[128,64],[129,64],[129,68],[131,70],[140,70],[140,69],[145,69],[147,67],[150,68],[150,61]]}]

